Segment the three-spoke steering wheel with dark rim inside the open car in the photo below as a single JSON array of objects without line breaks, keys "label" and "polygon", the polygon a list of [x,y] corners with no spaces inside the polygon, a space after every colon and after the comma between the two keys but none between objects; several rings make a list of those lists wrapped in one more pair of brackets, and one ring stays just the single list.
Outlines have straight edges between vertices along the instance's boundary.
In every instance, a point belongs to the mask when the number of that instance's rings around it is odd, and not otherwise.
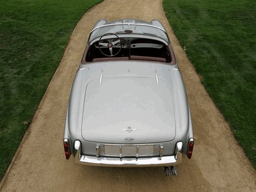
[{"label": "three-spoke steering wheel with dark rim inside the open car", "polygon": [[[106,38],[106,39],[102,40],[102,38],[107,35],[114,35],[116,38]],[[110,54],[104,53],[102,51],[102,49],[104,49],[104,48],[108,48]],[[117,52],[115,54],[113,54],[112,48],[119,48],[119,49],[117,50]],[[99,51],[101,51],[101,53],[107,57],[114,57],[121,51],[121,48],[122,48],[121,39],[116,34],[112,34],[112,33],[104,34],[99,39]]]}]

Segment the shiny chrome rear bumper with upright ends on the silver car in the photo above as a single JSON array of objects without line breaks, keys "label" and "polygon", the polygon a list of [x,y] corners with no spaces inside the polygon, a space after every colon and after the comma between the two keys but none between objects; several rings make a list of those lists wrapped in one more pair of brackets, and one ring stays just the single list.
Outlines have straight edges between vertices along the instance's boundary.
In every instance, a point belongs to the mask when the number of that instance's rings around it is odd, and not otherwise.
[{"label": "shiny chrome rear bumper with upright ends on the silver car", "polygon": [[76,163],[90,166],[112,166],[112,167],[147,167],[147,166],[174,166],[182,162],[182,142],[176,144],[176,155],[163,157],[96,157],[82,155],[80,153],[80,141],[74,143],[74,156]]}]

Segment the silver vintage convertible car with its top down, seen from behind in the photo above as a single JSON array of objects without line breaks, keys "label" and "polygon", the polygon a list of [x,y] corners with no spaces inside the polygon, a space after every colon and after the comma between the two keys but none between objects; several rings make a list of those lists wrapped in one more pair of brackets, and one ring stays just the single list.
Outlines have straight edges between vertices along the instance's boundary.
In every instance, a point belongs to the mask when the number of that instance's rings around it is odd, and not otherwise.
[{"label": "silver vintage convertible car with its top down, seen from behind", "polygon": [[163,166],[191,158],[187,93],[165,27],[158,20],[99,20],[69,97],[66,158],[91,166]]}]

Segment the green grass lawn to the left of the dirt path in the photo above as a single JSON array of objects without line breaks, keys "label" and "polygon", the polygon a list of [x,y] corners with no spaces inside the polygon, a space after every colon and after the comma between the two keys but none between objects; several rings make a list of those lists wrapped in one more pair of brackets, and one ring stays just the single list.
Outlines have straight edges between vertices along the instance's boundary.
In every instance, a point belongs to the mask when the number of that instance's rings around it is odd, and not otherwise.
[{"label": "green grass lawn to the left of the dirt path", "polygon": [[0,0],[0,179],[82,15],[102,0]]}]

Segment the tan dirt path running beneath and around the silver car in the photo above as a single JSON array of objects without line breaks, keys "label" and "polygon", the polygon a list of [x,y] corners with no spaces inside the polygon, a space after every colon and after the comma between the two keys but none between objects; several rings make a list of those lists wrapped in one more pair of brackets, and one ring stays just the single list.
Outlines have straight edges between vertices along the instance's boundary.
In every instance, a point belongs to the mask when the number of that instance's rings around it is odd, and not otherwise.
[{"label": "tan dirt path running beneath and around the silver car", "polygon": [[[163,168],[98,168],[66,161],[63,126],[69,90],[93,24],[101,19],[162,21],[185,80],[196,145],[179,175]],[[34,116],[2,191],[256,191],[256,174],[229,125],[208,96],[162,9],[162,0],[105,0],[77,24],[44,98]]]}]

